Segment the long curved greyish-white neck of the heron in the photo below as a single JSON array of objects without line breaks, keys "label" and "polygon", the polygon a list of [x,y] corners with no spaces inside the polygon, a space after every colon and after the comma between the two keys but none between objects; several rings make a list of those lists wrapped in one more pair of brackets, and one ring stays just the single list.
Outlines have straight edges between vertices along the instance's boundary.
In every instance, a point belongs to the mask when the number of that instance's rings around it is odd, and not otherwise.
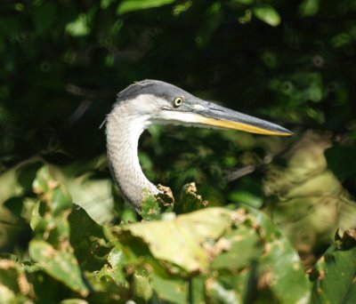
[{"label": "long curved greyish-white neck of the heron", "polygon": [[122,196],[135,208],[144,196],[158,194],[158,188],[142,172],[138,157],[140,135],[149,121],[145,116],[130,115],[125,104],[117,105],[106,124],[109,166]]}]

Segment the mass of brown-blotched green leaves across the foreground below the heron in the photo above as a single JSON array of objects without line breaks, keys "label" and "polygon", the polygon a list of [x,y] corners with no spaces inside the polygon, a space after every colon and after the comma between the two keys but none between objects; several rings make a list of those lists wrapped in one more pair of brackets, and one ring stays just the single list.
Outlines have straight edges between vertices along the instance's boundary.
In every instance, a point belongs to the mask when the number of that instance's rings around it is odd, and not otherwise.
[{"label": "mass of brown-blotched green leaves across the foreground below the heron", "polygon": [[344,271],[344,287],[333,293],[333,302],[354,300],[353,230],[320,259],[311,284],[287,238],[253,208],[214,207],[178,216],[166,212],[162,220],[105,228],[70,204],[66,188],[53,180],[48,166],[36,173],[33,191],[38,202],[30,222],[30,260],[0,260],[0,294],[9,302],[308,303],[311,295],[329,299],[321,291],[331,292],[327,286],[339,271]]}]

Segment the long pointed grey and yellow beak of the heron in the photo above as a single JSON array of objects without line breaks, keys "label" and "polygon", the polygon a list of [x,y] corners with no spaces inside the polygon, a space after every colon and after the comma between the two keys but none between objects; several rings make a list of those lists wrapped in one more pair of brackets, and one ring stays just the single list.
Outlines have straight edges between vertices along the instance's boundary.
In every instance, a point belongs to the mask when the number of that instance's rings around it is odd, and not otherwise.
[{"label": "long pointed grey and yellow beak of the heron", "polygon": [[293,132],[278,124],[272,124],[230,108],[223,108],[211,102],[199,101],[199,103],[192,106],[195,124],[264,135],[289,136],[293,134]]}]

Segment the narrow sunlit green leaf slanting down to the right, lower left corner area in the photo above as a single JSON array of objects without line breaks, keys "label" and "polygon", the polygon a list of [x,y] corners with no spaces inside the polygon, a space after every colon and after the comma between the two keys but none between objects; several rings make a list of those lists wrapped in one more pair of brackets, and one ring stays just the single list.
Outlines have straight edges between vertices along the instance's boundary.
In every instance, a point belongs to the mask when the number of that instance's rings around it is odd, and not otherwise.
[{"label": "narrow sunlit green leaf slanting down to the right, lower left corner area", "polygon": [[[65,246],[65,244],[62,244],[62,246]],[[69,244],[67,246],[69,248]],[[71,290],[79,292],[82,296],[89,293],[73,253],[57,251],[51,244],[41,240],[32,240],[29,243],[28,251],[30,257],[36,260],[48,275],[61,281]]]}]

